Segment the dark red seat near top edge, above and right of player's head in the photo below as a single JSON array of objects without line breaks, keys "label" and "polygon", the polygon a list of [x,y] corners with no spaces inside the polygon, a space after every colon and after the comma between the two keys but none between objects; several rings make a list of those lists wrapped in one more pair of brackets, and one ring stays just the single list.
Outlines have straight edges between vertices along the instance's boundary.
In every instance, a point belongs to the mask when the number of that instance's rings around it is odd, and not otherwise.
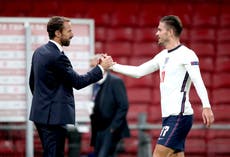
[{"label": "dark red seat near top edge, above and right of player's head", "polygon": [[217,26],[219,7],[216,3],[195,3],[193,6],[193,26]]}]

